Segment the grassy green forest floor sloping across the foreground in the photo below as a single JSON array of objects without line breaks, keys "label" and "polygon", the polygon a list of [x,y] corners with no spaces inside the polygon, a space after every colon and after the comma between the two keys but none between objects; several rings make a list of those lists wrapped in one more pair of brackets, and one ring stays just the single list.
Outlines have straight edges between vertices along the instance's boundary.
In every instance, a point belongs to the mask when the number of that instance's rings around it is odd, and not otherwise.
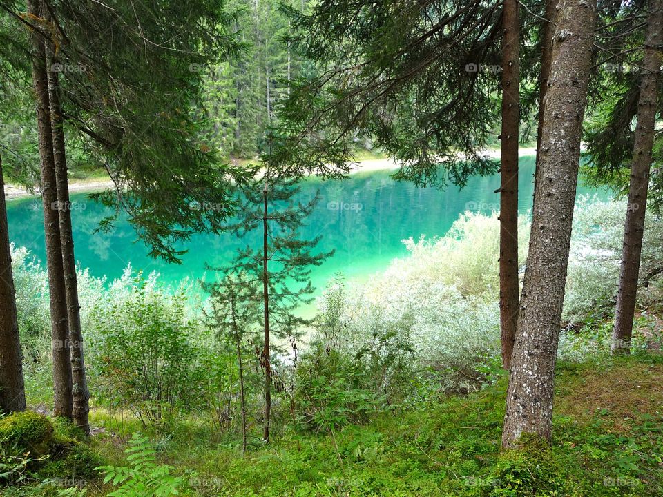
[{"label": "grassy green forest floor sloping across the foreground", "polygon": [[[193,422],[157,447],[191,496],[663,496],[663,355],[560,362],[550,450],[500,453],[505,395],[503,376],[327,433],[279,429],[280,420],[271,445],[256,437],[246,456],[236,439]],[[96,410],[93,425],[103,427],[95,451],[125,465],[137,422]],[[87,495],[108,491],[90,482]]]}]

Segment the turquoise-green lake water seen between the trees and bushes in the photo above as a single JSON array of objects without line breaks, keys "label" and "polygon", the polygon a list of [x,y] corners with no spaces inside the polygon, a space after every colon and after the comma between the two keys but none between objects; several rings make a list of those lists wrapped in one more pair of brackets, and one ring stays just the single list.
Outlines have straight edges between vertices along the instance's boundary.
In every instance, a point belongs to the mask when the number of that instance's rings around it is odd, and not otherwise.
[{"label": "turquoise-green lake water seen between the trees and bushes", "polygon": [[[532,207],[534,157],[521,157],[519,210]],[[304,233],[321,235],[320,249],[336,253],[315,268],[312,278],[318,291],[335,273],[346,277],[366,277],[385,268],[394,257],[405,255],[402,240],[420,235],[444,235],[466,210],[490,213],[499,209],[499,177],[472,177],[461,191],[455,186],[446,190],[416,188],[410,183],[394,182],[389,171],[355,173],[343,181],[321,182],[311,179],[302,186],[301,195],[312,197],[320,189],[316,207]],[[597,193],[579,186],[579,195]],[[605,191],[598,192],[608,197]],[[82,267],[108,280],[122,275],[131,263],[135,270],[157,271],[162,280],[177,284],[185,277],[198,280],[206,273],[206,264],[220,266],[233,258],[240,245],[232,235],[195,235],[183,244],[188,249],[180,265],[167,264],[148,257],[142,242],[126,220],[119,220],[111,233],[95,233],[105,211],[86,195],[73,195],[72,211],[76,258]],[[26,246],[44,260],[44,224],[41,199],[31,197],[8,202],[10,239]],[[258,239],[256,239],[258,242]],[[207,272],[208,275],[209,272]]]}]

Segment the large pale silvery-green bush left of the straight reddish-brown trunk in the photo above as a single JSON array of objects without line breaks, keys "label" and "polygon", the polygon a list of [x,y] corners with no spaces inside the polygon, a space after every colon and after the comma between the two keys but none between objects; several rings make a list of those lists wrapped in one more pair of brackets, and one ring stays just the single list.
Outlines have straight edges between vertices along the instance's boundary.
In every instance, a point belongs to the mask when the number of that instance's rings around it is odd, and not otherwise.
[{"label": "large pale silvery-green bush left of the straight reddish-brown trunk", "polygon": [[369,368],[398,359],[442,391],[481,387],[499,366],[497,215],[465,213],[445,237],[405,244],[408,256],[368,282],[330,284],[316,339]]}]

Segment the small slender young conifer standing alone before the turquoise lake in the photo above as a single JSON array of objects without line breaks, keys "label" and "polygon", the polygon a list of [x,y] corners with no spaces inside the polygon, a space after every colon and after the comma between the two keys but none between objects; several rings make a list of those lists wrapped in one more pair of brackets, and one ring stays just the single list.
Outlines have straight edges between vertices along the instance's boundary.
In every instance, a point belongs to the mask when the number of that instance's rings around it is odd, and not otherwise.
[{"label": "small slender young conifer standing alone before the turquoise lake", "polygon": [[297,309],[312,302],[311,266],[319,266],[332,252],[315,252],[319,236],[311,240],[300,237],[300,227],[318,202],[317,196],[297,198],[300,175],[284,173],[269,165],[262,172],[253,169],[253,173],[253,179],[241,186],[238,222],[229,228],[251,243],[238,251],[223,272],[226,284],[229,277],[233,278],[233,284],[243,287],[247,295],[254,294],[253,290],[249,291],[251,285],[258,285],[255,295],[261,308],[259,324],[263,330],[260,362],[265,373],[263,439],[269,442],[273,351],[278,349],[272,338],[296,338],[302,327],[310,324]]}]

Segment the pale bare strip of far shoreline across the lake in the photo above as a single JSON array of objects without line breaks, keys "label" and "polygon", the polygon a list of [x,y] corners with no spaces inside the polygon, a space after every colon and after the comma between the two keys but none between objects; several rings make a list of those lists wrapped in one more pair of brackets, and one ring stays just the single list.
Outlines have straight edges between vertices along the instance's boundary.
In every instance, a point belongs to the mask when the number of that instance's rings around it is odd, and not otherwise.
[{"label": "pale bare strip of far shoreline across the lake", "polygon": [[[535,147],[519,148],[518,155],[523,157],[526,155],[535,155]],[[500,150],[486,150],[486,156],[498,159]],[[356,164],[350,166],[349,174],[374,172],[378,170],[394,170],[398,169],[398,164],[392,159],[366,159],[358,161]],[[113,181],[111,179],[83,179],[79,181],[70,182],[69,193],[91,193],[112,188]],[[27,188],[17,186],[15,184],[5,184],[5,199],[8,201],[24,199],[30,197],[39,197],[39,188],[35,186],[34,191],[30,192]]]}]

